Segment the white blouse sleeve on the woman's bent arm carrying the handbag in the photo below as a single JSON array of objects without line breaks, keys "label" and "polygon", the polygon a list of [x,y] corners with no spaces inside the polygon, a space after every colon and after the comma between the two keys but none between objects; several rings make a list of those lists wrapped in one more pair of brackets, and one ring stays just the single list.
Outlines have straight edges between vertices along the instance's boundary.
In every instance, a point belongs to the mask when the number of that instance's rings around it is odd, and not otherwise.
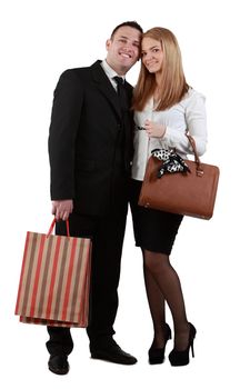
[{"label": "white blouse sleeve on the woman's bent arm carrying the handbag", "polygon": [[[187,99],[186,102],[186,130],[194,138],[197,152],[202,156],[206,152],[207,147],[207,116],[204,97],[197,91]],[[192,154],[192,148],[189,144],[189,140],[183,131],[167,127],[164,133],[164,140],[167,140],[170,147],[176,148],[177,151],[182,153]]]}]

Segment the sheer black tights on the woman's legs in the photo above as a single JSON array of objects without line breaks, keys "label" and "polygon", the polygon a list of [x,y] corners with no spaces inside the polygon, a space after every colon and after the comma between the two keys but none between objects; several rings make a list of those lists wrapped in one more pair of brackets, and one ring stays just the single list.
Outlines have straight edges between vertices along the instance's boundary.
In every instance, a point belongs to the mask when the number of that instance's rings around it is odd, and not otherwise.
[{"label": "sheer black tights on the woman's legs", "polygon": [[174,348],[184,350],[188,345],[189,323],[179,277],[169,261],[169,256],[143,249],[142,253],[146,291],[154,330],[152,346],[164,346],[167,301],[174,325]]}]

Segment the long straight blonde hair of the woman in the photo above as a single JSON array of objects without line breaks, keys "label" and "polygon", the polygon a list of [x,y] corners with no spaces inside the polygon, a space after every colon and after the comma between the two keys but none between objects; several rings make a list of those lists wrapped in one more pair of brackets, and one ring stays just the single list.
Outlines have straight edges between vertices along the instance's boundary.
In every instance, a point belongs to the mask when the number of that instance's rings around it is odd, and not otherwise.
[{"label": "long straight blonde hair of the woman", "polygon": [[[186,82],[181,51],[174,34],[162,27],[154,27],[142,34],[161,43],[163,61],[161,68],[161,100],[157,111],[164,110],[179,102],[189,89]],[[156,89],[156,74],[150,73],[141,62],[139,79],[133,91],[132,109],[142,111]]]}]

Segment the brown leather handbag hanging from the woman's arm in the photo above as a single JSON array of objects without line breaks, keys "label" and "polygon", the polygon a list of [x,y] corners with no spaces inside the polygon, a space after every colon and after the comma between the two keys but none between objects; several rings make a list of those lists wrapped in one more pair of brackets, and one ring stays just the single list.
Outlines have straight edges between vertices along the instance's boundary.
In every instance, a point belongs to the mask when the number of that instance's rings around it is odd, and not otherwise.
[{"label": "brown leather handbag hanging from the woman's arm", "polygon": [[201,163],[194,139],[189,134],[187,137],[194,152],[194,161],[182,160],[187,166],[186,171],[166,171],[159,178],[163,162],[150,157],[138,203],[146,208],[209,220],[213,215],[219,168]]}]

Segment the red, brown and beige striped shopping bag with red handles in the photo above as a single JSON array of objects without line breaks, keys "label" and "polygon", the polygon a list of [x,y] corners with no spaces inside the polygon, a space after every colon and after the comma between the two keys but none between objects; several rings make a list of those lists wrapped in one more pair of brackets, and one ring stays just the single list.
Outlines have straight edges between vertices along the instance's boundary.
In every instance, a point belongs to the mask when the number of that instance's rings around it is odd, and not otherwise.
[{"label": "red, brown and beige striped shopping bag with red handles", "polygon": [[16,315],[26,323],[87,327],[91,240],[27,232]]}]

